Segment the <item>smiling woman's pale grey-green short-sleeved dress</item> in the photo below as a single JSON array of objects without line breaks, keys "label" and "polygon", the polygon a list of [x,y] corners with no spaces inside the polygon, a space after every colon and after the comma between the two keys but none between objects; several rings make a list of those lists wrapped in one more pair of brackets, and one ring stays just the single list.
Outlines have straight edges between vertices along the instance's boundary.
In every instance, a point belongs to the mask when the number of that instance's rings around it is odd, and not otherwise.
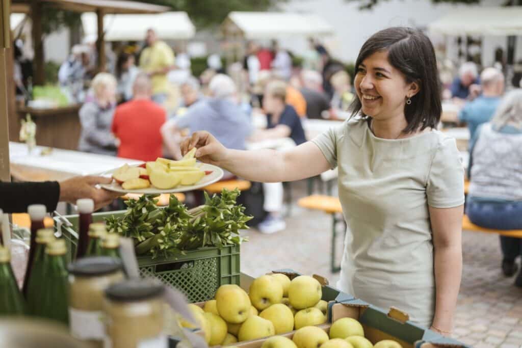
[{"label": "smiling woman's pale grey-green short-sleeved dress", "polygon": [[312,141],[339,172],[348,229],[338,286],[431,325],[435,279],[428,206],[464,204],[455,139],[436,130],[382,139],[366,121],[350,119]]}]

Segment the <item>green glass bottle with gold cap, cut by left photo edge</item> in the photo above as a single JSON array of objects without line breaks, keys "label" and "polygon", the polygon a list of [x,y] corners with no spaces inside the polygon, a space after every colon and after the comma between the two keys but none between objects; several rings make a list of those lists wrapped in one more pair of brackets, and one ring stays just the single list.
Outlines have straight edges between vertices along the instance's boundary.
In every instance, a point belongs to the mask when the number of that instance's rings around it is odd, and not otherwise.
[{"label": "green glass bottle with gold cap, cut by left photo edge", "polygon": [[0,316],[24,314],[26,304],[11,268],[11,254],[0,246]]}]

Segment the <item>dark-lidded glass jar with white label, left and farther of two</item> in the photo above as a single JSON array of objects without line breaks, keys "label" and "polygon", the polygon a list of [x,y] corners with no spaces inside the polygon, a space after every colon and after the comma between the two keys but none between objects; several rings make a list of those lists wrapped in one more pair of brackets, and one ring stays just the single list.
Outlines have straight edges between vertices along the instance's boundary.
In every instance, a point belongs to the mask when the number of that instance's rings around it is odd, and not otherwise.
[{"label": "dark-lidded glass jar with white label, left and farther of two", "polygon": [[93,347],[103,347],[103,292],[124,280],[121,260],[85,257],[69,265],[69,328]]}]

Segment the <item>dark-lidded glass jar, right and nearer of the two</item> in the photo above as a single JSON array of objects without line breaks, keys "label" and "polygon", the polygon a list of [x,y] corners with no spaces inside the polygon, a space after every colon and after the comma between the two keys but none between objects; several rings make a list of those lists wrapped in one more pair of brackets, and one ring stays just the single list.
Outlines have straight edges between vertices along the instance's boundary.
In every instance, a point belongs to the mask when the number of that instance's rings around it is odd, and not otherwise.
[{"label": "dark-lidded glass jar, right and nearer of the two", "polygon": [[103,311],[109,346],[167,347],[163,292],[163,285],[151,280],[132,279],[108,287]]}]

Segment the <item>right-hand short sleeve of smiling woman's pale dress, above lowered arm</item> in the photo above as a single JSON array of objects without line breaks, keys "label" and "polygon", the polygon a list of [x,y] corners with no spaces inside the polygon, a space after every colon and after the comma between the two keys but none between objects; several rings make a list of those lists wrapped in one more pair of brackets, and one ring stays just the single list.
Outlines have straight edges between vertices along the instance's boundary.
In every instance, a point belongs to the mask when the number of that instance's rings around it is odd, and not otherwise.
[{"label": "right-hand short sleeve of smiling woman's pale dress, above lowered arm", "polygon": [[437,148],[426,183],[428,205],[452,208],[464,204],[464,167],[455,139],[446,138]]}]

